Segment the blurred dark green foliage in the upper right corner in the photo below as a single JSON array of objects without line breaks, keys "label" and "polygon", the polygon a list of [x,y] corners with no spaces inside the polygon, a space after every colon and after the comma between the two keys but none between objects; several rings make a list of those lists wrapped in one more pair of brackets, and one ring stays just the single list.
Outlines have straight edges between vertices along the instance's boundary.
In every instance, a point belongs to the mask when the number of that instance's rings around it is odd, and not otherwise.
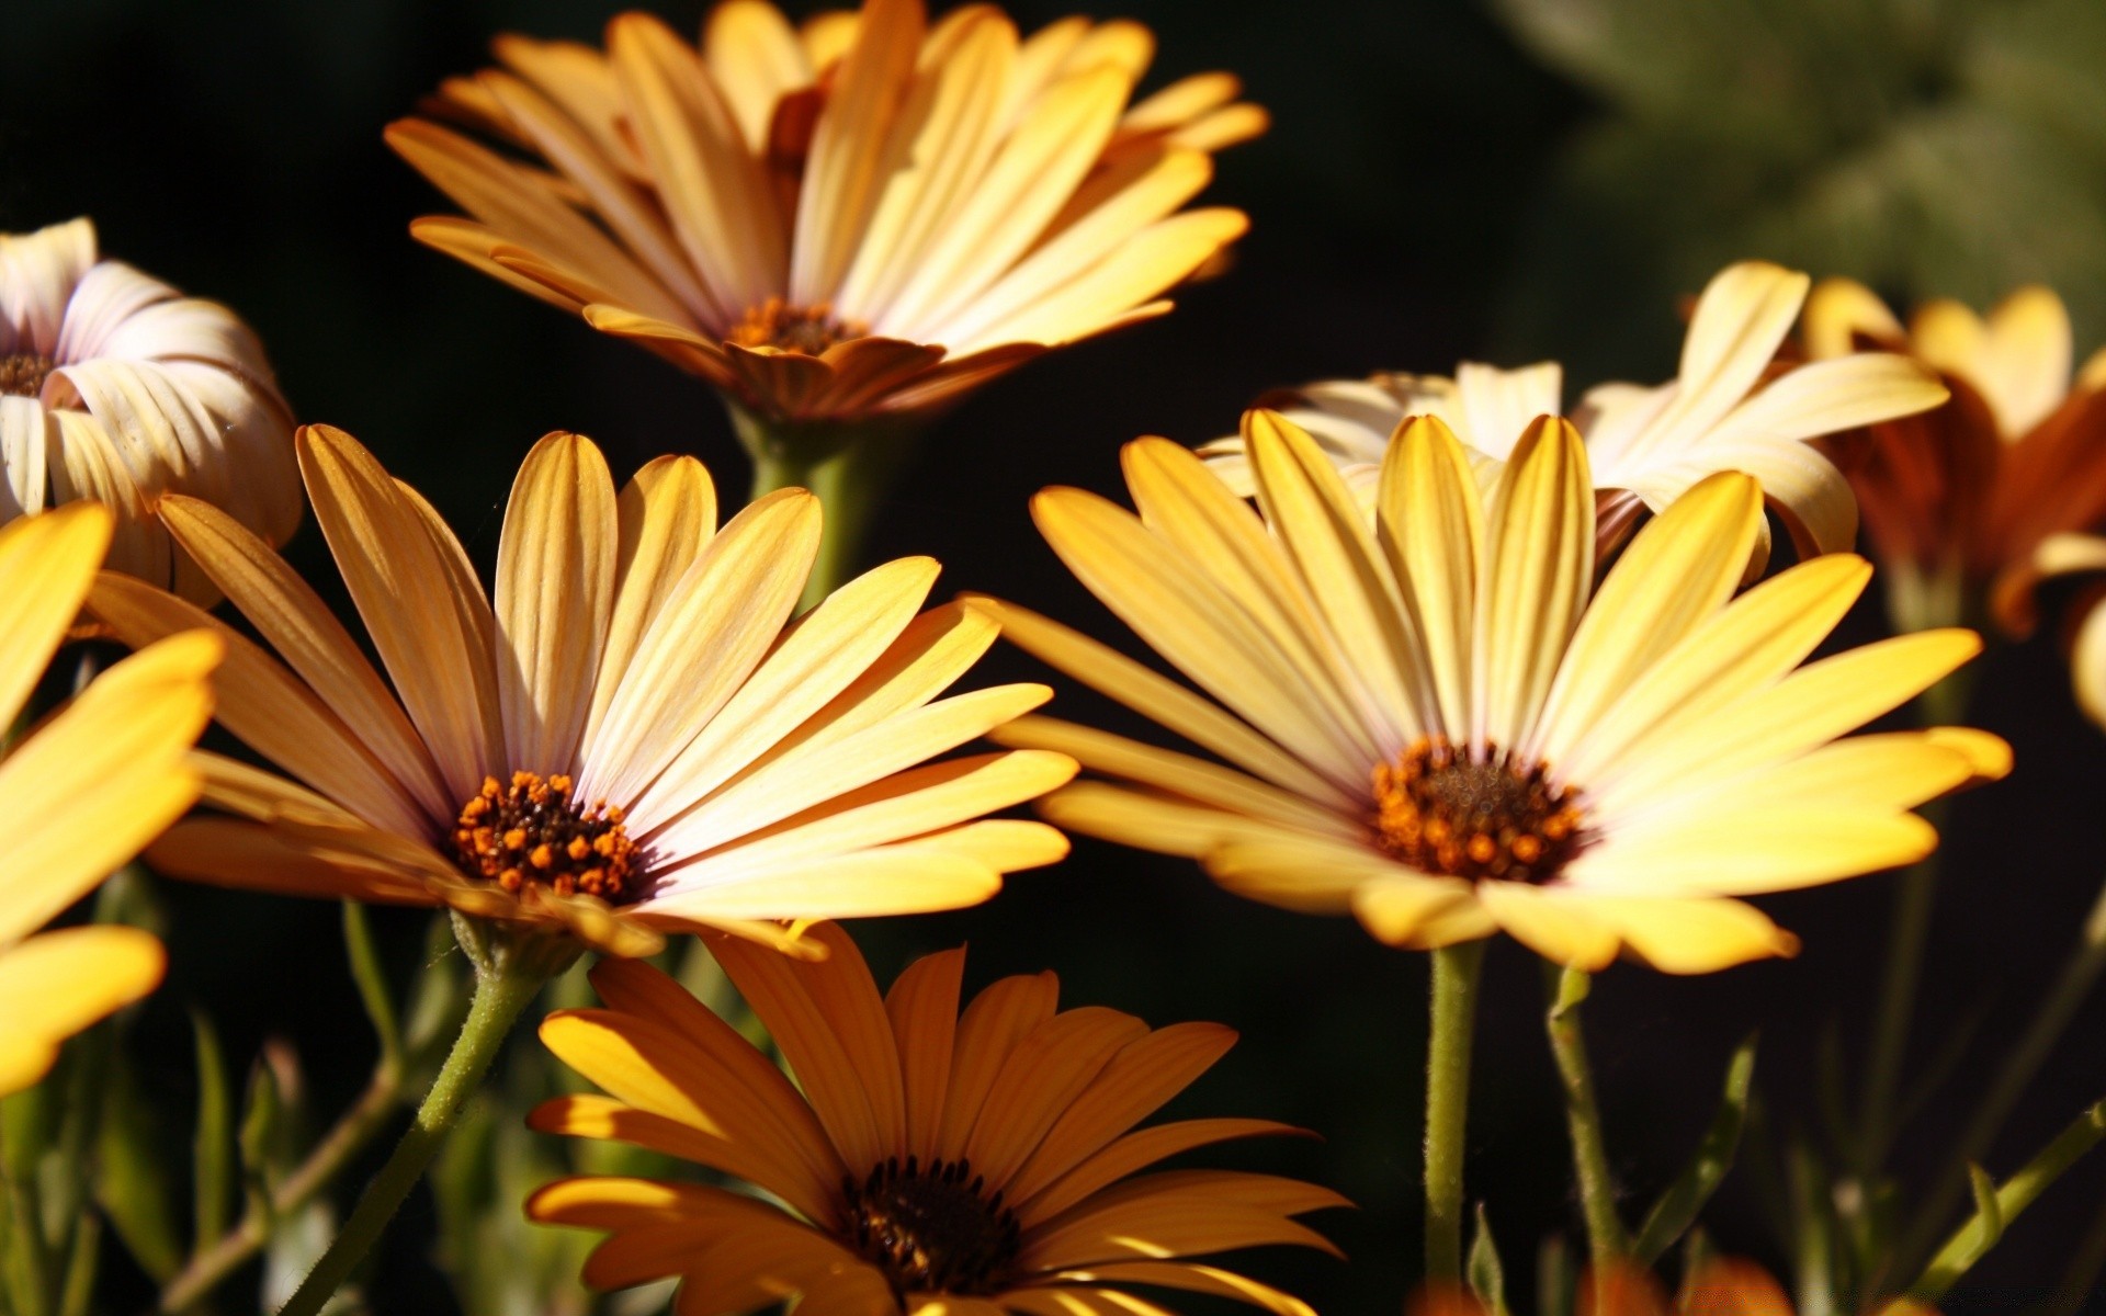
[{"label": "blurred dark green foliage in the upper right corner", "polygon": [[1666,343],[1676,295],[1740,257],[1904,301],[1982,305],[2041,280],[2068,299],[2081,343],[2106,335],[2095,0],[1493,8],[1601,103],[1531,217],[1514,347],[1571,343],[1582,377],[1620,373]]}]

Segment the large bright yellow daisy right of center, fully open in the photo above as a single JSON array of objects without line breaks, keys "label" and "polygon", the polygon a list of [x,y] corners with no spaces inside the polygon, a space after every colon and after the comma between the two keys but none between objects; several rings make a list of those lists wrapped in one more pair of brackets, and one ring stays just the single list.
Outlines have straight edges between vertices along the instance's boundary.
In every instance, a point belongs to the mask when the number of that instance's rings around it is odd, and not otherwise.
[{"label": "large bright yellow daisy right of center, fully open", "polygon": [[[1196,857],[1230,891],[1354,912],[1392,943],[1504,929],[1550,960],[1620,950],[1702,973],[1794,941],[1731,899],[1923,857],[1908,813],[2009,750],[1973,731],[1843,733],[1980,649],[1925,632],[1799,663],[1864,590],[1813,558],[1733,598],[1763,522],[1718,474],[1594,585],[1594,482],[1539,419],[1489,497],[1438,419],[1384,457],[1375,524],[1323,448],[1245,425],[1257,507],[1167,440],[1125,448],[1139,516],[1076,488],[1032,503],[1070,571],[1221,705],[1053,621],[984,600],[1013,642],[1232,766],[1024,718],[1009,745],[1110,781],[1042,802],[1074,832]],[[1799,670],[1794,670],[1799,667]]]}]

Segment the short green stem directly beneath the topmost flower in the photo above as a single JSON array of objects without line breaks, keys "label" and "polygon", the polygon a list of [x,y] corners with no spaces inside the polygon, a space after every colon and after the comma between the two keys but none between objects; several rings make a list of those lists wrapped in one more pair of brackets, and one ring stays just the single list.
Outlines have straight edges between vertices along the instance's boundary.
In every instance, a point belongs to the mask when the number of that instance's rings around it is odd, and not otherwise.
[{"label": "short green stem directly beneath the topmost flower", "polygon": [[819,556],[798,604],[809,609],[855,575],[870,520],[914,432],[889,419],[859,425],[769,421],[735,404],[731,427],[754,459],[754,499],[777,488],[819,495],[826,516]]}]

